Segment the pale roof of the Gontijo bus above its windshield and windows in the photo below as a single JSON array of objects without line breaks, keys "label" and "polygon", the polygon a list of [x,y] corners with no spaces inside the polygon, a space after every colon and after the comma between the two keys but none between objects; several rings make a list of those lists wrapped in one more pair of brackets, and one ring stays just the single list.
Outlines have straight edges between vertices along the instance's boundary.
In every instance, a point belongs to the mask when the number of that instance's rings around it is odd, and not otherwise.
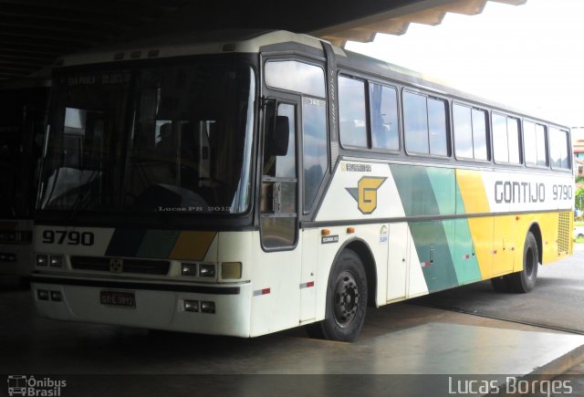
[{"label": "pale roof of the Gontijo bus above its windshield and windows", "polygon": [[[162,57],[183,57],[201,54],[258,53],[262,47],[284,43],[295,43],[322,50],[322,43],[328,43],[318,37],[297,34],[285,30],[262,29],[226,29],[181,34],[141,37],[129,41],[120,41],[108,47],[99,47],[91,51],[74,54],[57,60],[56,67],[80,66],[108,63],[122,60],[139,60]],[[504,110],[528,116],[532,112],[513,109],[490,99],[480,98],[467,92],[454,89],[438,78],[401,66],[368,57],[359,53],[332,46],[343,66],[357,68],[366,73],[374,73],[384,78],[408,83],[420,89],[428,89],[438,94],[455,99],[474,102],[490,108]],[[532,117],[535,120],[547,120]],[[560,124],[557,124],[558,126]]]}]

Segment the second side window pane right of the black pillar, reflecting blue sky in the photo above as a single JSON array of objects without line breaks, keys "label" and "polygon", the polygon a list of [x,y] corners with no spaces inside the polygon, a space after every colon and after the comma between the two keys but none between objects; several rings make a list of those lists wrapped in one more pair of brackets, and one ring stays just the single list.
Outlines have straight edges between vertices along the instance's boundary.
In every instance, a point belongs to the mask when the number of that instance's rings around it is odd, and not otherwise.
[{"label": "second side window pane right of the black pillar, reflecting blue sky", "polygon": [[370,123],[373,148],[400,149],[397,90],[370,83]]}]

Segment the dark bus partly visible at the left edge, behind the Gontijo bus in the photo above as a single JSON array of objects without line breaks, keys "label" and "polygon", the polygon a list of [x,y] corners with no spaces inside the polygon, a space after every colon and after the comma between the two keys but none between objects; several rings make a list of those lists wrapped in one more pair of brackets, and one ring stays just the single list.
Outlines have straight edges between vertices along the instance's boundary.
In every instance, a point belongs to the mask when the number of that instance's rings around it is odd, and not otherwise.
[{"label": "dark bus partly visible at the left edge, behind the Gontijo bus", "polygon": [[0,275],[27,277],[33,270],[33,212],[48,90],[47,80],[0,85]]}]

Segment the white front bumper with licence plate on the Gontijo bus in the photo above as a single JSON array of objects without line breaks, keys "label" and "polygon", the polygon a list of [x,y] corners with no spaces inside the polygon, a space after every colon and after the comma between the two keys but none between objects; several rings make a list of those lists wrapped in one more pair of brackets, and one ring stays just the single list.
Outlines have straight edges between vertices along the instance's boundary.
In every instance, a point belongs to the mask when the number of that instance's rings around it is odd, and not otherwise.
[{"label": "white front bumper with licence plate on the Gontijo bus", "polygon": [[250,336],[251,283],[193,285],[34,275],[31,291],[38,313],[48,319]]}]

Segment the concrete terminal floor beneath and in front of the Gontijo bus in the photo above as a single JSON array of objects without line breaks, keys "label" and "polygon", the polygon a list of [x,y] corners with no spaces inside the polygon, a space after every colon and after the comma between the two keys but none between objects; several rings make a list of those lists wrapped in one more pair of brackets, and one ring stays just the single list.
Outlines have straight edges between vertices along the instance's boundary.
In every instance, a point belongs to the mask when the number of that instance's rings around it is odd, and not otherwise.
[{"label": "concrete terminal floor beneath and in front of the Gontijo bus", "polygon": [[241,340],[41,319],[29,292],[0,277],[0,373],[67,379],[64,396],[448,395],[453,376],[504,381],[584,358],[584,336],[427,303],[371,309],[355,343],[311,340],[302,329]]}]

